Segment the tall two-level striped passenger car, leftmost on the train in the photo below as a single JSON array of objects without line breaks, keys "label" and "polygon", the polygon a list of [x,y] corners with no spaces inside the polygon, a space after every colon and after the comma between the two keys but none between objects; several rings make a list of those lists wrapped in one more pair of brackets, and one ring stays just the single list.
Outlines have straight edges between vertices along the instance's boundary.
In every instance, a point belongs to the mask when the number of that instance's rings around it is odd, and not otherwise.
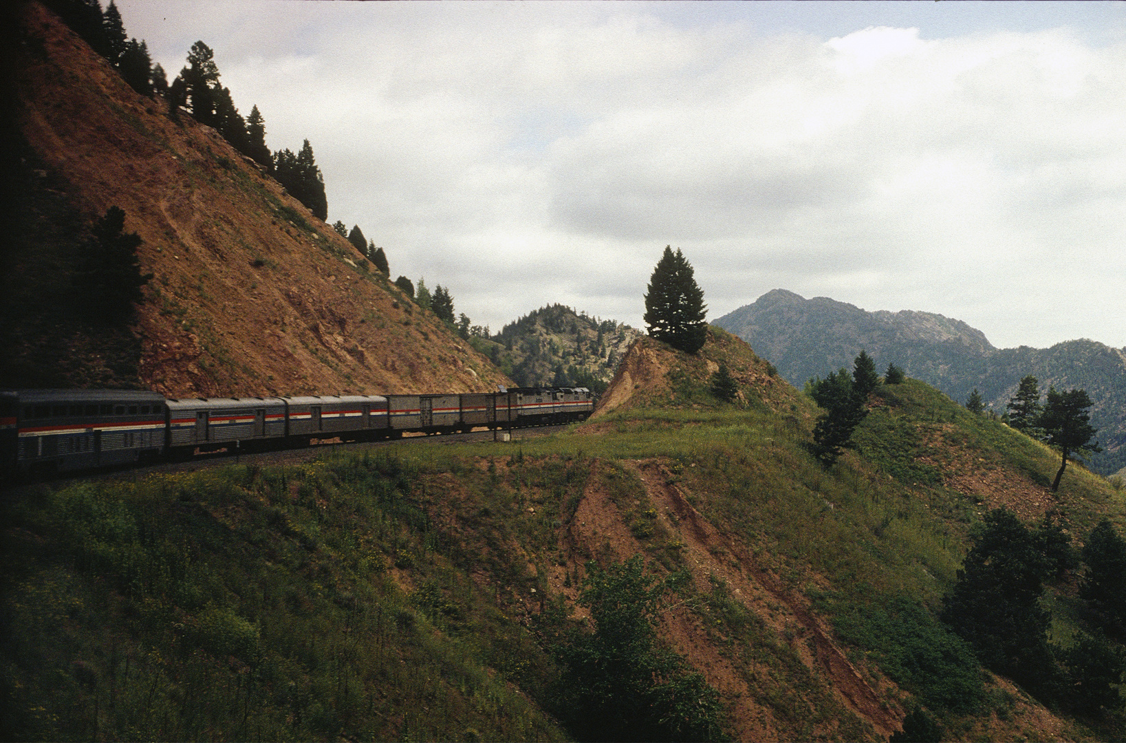
[{"label": "tall two-level striped passenger car, leftmost on the train", "polygon": [[5,463],[18,471],[128,464],[164,447],[164,397],[135,390],[0,393]]}]

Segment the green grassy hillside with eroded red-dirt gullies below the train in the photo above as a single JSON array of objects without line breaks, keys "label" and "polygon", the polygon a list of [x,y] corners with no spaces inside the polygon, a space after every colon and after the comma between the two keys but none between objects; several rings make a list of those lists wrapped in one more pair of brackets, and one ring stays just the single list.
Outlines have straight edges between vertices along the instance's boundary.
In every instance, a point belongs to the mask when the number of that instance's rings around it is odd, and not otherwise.
[{"label": "green grassy hillside with eroded red-dirt gullies below the train", "polygon": [[[1053,498],[1051,451],[913,381],[881,387],[858,450],[825,471],[804,395],[744,382],[720,404],[686,374],[721,353],[736,378],[765,366],[745,346],[637,349],[674,400],[547,438],[9,503],[6,732],[566,737],[557,651],[589,626],[588,561],[641,555],[683,576],[659,636],[738,740],[884,740],[919,705],[950,738],[1120,738],[1120,713],[1061,716],[982,671],[936,612],[989,509],[1053,510],[1081,538],[1101,516],[1126,527],[1121,492],[1073,466]],[[1055,644],[1083,625],[1075,584],[1049,587]]]}]

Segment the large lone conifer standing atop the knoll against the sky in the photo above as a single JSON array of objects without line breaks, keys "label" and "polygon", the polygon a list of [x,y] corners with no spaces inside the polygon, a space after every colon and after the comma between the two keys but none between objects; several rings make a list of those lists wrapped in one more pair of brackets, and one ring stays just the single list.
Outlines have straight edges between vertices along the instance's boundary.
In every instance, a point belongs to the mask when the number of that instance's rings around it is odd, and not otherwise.
[{"label": "large lone conifer standing atop the knoll against the sky", "polygon": [[707,305],[704,290],[692,277],[692,267],[680,249],[667,245],[645,293],[645,325],[649,334],[669,346],[695,353],[707,339]]}]

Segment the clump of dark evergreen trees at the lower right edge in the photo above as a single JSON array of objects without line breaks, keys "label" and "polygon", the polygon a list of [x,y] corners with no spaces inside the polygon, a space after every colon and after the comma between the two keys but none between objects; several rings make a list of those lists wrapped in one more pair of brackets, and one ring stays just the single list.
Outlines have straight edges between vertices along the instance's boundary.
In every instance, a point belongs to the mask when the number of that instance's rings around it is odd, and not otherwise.
[{"label": "clump of dark evergreen trees at the lower right edge", "polygon": [[1007,509],[974,536],[941,619],[1001,673],[1049,707],[1097,717],[1123,707],[1126,671],[1126,540],[1102,519],[1081,553],[1081,626],[1067,647],[1048,643],[1044,587],[1079,567],[1071,538],[1051,517],[1029,529]]}]

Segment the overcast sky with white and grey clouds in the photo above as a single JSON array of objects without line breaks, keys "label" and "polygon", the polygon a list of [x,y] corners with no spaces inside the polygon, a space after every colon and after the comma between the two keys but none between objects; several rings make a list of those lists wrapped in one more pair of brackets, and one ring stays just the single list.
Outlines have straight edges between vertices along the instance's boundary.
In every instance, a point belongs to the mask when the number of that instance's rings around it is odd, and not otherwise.
[{"label": "overcast sky with white and grey clouds", "polygon": [[1126,347],[1120,2],[117,5],[493,332],[643,328],[671,244],[709,320],[784,288]]}]

